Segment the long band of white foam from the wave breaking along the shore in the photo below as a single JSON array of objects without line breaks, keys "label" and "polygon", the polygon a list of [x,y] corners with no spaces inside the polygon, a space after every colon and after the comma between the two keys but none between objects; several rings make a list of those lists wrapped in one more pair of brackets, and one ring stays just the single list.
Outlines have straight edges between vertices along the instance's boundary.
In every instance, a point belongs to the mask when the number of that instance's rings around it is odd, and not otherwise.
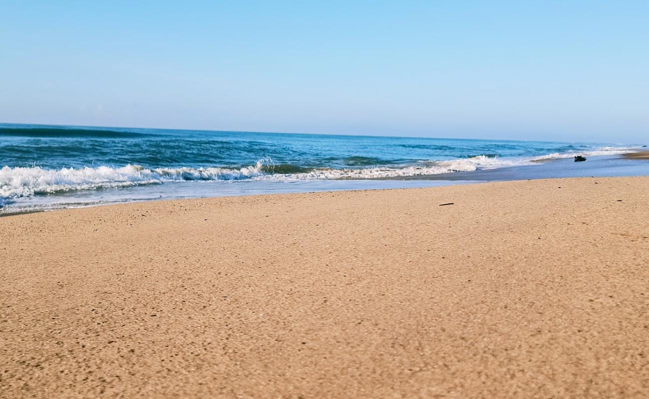
[{"label": "long band of white foam from the wave breaking along the shore", "polygon": [[113,168],[107,166],[42,169],[41,167],[8,167],[0,169],[0,208],[7,200],[29,197],[36,194],[57,193],[71,190],[90,190],[110,187],[141,186],[186,180],[332,180],[398,178],[404,176],[439,175],[476,169],[533,165],[534,161],[554,158],[571,158],[576,154],[584,156],[623,154],[638,151],[637,147],[602,147],[593,151],[574,151],[547,154],[530,158],[499,158],[475,156],[444,161],[421,161],[405,167],[367,167],[363,169],[312,169],[305,173],[268,174],[263,165],[272,164],[264,159],[255,165],[239,169],[225,167],[166,167],[147,169],[139,165]]}]

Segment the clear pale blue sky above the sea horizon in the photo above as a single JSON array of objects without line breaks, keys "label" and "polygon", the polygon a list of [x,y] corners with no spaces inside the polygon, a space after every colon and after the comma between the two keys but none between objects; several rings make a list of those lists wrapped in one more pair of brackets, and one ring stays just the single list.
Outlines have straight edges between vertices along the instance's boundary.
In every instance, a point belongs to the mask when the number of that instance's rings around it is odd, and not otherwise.
[{"label": "clear pale blue sky above the sea horizon", "polygon": [[0,0],[0,123],[649,141],[649,1]]}]

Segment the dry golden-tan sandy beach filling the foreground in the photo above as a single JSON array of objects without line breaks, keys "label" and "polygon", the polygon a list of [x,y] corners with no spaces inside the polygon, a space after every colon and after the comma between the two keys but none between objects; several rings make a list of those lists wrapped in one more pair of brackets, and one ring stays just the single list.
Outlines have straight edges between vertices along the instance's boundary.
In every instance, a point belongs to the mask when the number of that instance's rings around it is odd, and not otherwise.
[{"label": "dry golden-tan sandy beach filling the foreground", "polygon": [[1,217],[0,397],[646,398],[648,193],[567,178]]}]

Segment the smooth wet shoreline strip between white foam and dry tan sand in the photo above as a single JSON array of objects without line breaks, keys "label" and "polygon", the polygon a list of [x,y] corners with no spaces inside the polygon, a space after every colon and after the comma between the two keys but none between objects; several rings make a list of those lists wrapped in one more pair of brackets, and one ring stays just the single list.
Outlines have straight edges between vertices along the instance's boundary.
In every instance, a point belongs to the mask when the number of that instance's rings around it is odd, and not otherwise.
[{"label": "smooth wet shoreline strip between white foam and dry tan sand", "polygon": [[[649,152],[648,152],[649,153]],[[400,189],[474,184],[511,180],[539,180],[546,178],[649,176],[649,163],[641,158],[622,155],[592,156],[587,162],[572,162],[572,158],[546,160],[535,165],[515,165],[495,169],[478,169],[438,175],[415,175],[391,178],[363,178],[339,180],[241,180],[208,182],[170,182],[136,185],[132,187],[102,188],[96,190],[66,191],[54,195],[36,195],[12,200],[0,208],[0,217],[31,212],[49,212],[56,209],[86,208],[129,202],[147,202],[162,199],[236,197],[274,193],[308,193],[349,191],[358,189]]]}]

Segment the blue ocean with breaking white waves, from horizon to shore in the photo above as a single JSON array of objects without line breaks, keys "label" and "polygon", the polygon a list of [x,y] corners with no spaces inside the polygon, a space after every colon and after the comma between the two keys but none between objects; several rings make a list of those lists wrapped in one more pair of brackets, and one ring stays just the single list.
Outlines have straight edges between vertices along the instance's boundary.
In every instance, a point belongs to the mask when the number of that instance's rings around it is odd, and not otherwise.
[{"label": "blue ocean with breaking white waves, from horizon to shore", "polygon": [[[439,186],[471,182],[472,171],[540,166],[576,154],[613,156],[639,147],[0,124],[0,212],[134,200]],[[448,174],[453,178],[440,178]]]}]

